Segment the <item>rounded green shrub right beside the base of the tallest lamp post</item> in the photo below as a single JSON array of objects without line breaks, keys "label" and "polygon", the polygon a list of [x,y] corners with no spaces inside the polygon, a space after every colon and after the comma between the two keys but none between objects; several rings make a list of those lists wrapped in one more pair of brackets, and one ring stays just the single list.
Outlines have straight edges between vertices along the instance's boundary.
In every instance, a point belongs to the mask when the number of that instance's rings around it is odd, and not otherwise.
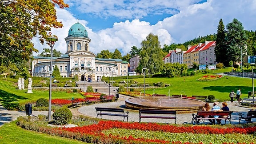
[{"label": "rounded green shrub right beside the base of the tallest lamp post", "polygon": [[52,115],[55,124],[68,124],[72,120],[72,112],[68,108],[56,109]]}]

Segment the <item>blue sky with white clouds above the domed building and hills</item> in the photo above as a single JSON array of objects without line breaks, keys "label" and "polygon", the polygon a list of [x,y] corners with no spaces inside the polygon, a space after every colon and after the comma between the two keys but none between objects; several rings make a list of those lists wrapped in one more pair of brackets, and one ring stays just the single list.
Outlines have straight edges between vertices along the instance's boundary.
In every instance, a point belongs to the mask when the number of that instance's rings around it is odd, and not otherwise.
[{"label": "blue sky with white clouds above the domed building and hills", "polygon": [[[164,44],[180,44],[198,36],[217,33],[220,19],[224,25],[234,18],[245,30],[256,31],[256,0],[64,0],[69,8],[56,7],[57,20],[63,28],[52,28],[58,36],[54,49],[66,53],[65,37],[69,28],[79,21],[91,39],[90,51],[114,52],[117,48],[122,56],[132,46],[141,48],[149,33],[158,36]],[[77,20],[79,19],[79,20]],[[37,56],[48,45],[40,44],[38,38],[32,42]]]}]

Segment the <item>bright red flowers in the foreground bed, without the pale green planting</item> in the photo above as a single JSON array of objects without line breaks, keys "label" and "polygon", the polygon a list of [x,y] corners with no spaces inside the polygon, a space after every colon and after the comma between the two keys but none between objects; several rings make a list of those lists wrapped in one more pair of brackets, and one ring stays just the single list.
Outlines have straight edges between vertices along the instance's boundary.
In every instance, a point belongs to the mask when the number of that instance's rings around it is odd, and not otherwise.
[{"label": "bright red flowers in the foreground bed, without the pale green planting", "polygon": [[186,127],[186,126],[174,126],[169,124],[156,124],[156,123],[128,123],[128,122],[121,122],[121,121],[100,121],[98,124],[92,124],[83,127],[74,127],[74,128],[57,128],[64,131],[69,132],[78,132],[86,135],[94,135],[94,136],[102,136],[104,138],[111,137],[114,139],[121,139],[121,140],[138,140],[144,142],[156,142],[156,143],[170,143],[165,140],[147,140],[144,138],[133,138],[132,136],[129,137],[122,137],[122,136],[106,136],[102,131],[108,130],[111,128],[124,128],[124,129],[135,129],[135,130],[142,130],[142,131],[158,131],[158,132],[171,132],[171,133],[193,133],[193,134],[253,134],[256,132],[256,127],[248,127],[248,128],[214,128],[209,126],[193,126],[193,127]]}]

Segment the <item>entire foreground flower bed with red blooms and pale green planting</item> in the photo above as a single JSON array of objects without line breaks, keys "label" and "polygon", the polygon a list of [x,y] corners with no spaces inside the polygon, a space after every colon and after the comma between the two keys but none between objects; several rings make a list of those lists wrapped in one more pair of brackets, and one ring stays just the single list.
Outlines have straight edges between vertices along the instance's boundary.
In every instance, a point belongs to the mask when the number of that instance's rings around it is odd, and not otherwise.
[{"label": "entire foreground flower bed with red blooms and pale green planting", "polygon": [[17,125],[29,130],[93,144],[255,144],[256,127],[191,126],[123,121],[99,121],[73,128],[52,128],[19,117]]}]

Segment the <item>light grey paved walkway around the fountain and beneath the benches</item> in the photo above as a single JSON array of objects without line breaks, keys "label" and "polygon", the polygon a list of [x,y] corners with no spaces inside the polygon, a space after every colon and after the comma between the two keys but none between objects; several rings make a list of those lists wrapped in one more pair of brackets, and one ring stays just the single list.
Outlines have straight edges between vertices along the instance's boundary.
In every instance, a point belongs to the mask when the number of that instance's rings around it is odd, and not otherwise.
[{"label": "light grey paved walkway around the fountain and beneath the benches", "polygon": [[[74,116],[79,115],[85,115],[85,116],[91,116],[96,117],[96,110],[95,107],[106,107],[106,108],[124,108],[125,111],[129,112],[129,122],[138,122],[139,121],[139,113],[137,110],[131,110],[125,108],[124,100],[129,98],[129,96],[119,95],[119,100],[116,102],[106,102],[106,103],[99,103],[99,104],[90,104],[85,105],[79,108],[71,108],[71,112]],[[221,103],[219,104],[221,106]],[[210,106],[212,107],[213,104],[210,103]],[[232,124],[238,124],[238,113],[239,112],[248,112],[251,108],[245,108],[238,106],[238,103],[231,103],[228,102],[228,107],[231,111],[233,111],[231,123]],[[195,112],[196,113],[196,112]],[[32,116],[38,116],[38,115],[46,115],[48,116],[48,111],[32,111]],[[25,111],[8,111],[7,109],[3,108],[2,105],[0,105],[0,126],[2,126],[5,123],[9,123],[13,120],[16,120],[19,116],[26,116]],[[108,120],[123,120],[122,117],[118,116],[102,116],[103,119]],[[175,123],[174,120],[165,120],[165,119],[142,119],[143,122],[160,122],[160,123]],[[221,121],[222,124],[224,124],[224,120]],[[208,124],[208,120],[200,121],[200,124]],[[245,124],[246,122],[244,120],[241,120],[241,124]],[[177,113],[177,124],[192,124],[192,113]],[[227,120],[227,124],[229,124],[229,121]]]}]

